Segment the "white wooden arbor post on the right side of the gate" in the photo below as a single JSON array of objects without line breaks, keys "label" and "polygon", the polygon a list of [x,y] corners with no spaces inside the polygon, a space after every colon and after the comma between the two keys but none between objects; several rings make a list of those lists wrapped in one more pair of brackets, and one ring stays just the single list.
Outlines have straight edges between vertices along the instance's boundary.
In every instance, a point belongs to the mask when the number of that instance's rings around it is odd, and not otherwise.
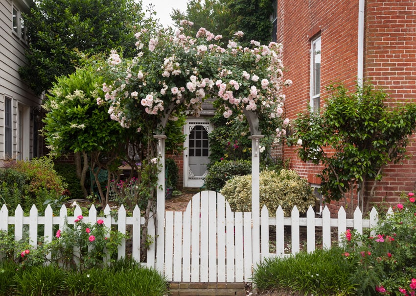
[{"label": "white wooden arbor post on the right side of the gate", "polygon": [[[260,139],[264,135],[251,135],[252,140],[252,239],[253,267],[260,262]],[[267,226],[268,227],[268,226]]]}]

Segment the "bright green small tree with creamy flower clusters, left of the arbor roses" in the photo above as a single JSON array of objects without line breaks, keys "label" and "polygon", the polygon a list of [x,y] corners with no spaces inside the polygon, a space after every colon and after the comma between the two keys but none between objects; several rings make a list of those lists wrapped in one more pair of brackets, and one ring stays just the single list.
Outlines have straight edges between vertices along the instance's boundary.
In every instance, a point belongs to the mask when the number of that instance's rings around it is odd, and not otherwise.
[{"label": "bright green small tree with creamy flower clusters, left of the arbor roses", "polygon": [[93,66],[77,69],[54,82],[46,95],[44,135],[51,153],[112,150],[128,130],[110,120],[108,108],[96,103],[103,78]]}]

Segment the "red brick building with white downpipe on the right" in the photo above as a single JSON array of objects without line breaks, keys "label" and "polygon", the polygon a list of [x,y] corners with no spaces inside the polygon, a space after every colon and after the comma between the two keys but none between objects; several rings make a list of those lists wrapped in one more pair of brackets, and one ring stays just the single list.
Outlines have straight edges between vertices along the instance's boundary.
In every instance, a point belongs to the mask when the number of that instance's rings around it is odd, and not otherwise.
[{"label": "red brick building with white downpipe on the right", "polygon": [[[308,104],[322,107],[325,86],[342,82],[352,89],[357,78],[384,88],[394,103],[416,102],[415,0],[279,0],[277,41],[284,47],[285,78],[294,82],[285,90],[290,119]],[[410,158],[384,170],[374,201],[393,203],[401,191],[414,189],[414,140]],[[322,167],[302,162],[295,149],[283,147],[283,158],[319,186],[316,174]]]}]

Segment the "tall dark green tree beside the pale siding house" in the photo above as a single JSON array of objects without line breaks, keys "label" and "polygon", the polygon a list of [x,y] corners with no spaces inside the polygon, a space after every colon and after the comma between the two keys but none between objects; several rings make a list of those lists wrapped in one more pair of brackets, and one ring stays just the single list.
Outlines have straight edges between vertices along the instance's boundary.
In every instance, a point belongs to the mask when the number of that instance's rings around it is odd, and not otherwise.
[{"label": "tall dark green tree beside the pale siding house", "polygon": [[40,0],[24,16],[29,38],[23,79],[40,94],[56,77],[71,74],[83,53],[124,48],[131,56],[135,26],[143,19],[141,2],[133,0]]}]

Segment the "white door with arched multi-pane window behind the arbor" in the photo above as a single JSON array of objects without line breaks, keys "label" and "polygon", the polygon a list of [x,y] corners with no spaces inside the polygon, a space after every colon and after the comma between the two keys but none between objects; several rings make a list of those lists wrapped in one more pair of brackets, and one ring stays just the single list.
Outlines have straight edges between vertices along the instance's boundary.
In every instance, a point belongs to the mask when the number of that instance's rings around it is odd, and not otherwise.
[{"label": "white door with arched multi-pane window behind the arbor", "polygon": [[188,119],[185,124],[184,186],[201,187],[209,163],[209,121],[203,118]]}]

